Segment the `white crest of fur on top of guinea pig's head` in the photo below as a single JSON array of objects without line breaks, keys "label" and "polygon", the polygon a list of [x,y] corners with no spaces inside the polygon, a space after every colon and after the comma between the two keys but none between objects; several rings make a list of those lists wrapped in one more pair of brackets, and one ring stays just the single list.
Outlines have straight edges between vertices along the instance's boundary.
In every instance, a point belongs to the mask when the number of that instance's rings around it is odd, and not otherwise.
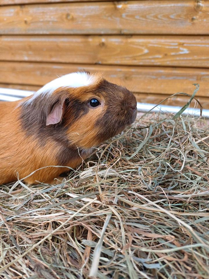
[{"label": "white crest of fur on top of guinea pig's head", "polygon": [[81,87],[87,86],[96,81],[96,76],[93,74],[88,74],[86,72],[75,72],[71,74],[67,74],[61,76],[59,78],[50,81],[42,88],[40,88],[37,92],[33,94],[33,96],[26,101],[26,103],[31,103],[37,96],[39,95],[50,95],[54,92],[57,88],[60,87]]}]

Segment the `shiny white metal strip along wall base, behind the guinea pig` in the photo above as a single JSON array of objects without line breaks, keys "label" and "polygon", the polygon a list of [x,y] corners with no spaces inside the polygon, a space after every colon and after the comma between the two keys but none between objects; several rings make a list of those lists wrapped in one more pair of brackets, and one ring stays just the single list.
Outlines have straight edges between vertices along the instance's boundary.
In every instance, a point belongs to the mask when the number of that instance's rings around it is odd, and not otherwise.
[{"label": "shiny white metal strip along wall base, behind the guinea pig", "polygon": [[[30,96],[34,93],[34,91],[29,90],[17,90],[11,88],[0,88],[0,101],[17,101],[24,97]],[[155,107],[155,104],[147,104],[147,103],[137,103],[137,110],[139,112],[147,112],[149,110],[155,112],[178,112],[181,107],[171,106],[171,105],[158,105]],[[187,108],[182,114],[189,114],[194,116],[200,115],[200,109],[197,108]],[[209,110],[203,109],[202,116],[209,117]]]}]

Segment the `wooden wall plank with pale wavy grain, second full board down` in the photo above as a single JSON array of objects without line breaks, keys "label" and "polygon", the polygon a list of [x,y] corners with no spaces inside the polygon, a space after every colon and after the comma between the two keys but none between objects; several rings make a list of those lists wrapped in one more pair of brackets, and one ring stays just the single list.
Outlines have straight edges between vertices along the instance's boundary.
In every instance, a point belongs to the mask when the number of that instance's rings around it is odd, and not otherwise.
[{"label": "wooden wall plank with pale wavy grain, second full board down", "polygon": [[209,67],[208,36],[1,36],[0,60]]}]

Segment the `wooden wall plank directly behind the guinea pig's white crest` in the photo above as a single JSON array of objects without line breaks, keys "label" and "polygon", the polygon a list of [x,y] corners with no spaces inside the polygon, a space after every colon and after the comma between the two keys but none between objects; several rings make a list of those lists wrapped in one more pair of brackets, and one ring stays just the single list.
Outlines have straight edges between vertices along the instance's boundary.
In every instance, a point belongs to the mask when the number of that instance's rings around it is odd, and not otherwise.
[{"label": "wooden wall plank directly behind the guinea pig's white crest", "polygon": [[193,83],[200,84],[197,96],[209,97],[209,69],[71,65],[27,62],[0,62],[0,83],[42,86],[73,71],[102,71],[113,83],[137,93],[191,94]]}]

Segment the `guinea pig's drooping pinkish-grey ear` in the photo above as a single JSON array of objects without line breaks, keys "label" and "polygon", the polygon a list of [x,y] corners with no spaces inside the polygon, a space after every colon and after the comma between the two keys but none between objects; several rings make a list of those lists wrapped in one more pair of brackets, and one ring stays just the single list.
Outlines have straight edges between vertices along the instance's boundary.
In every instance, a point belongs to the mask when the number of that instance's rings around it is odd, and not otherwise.
[{"label": "guinea pig's drooping pinkish-grey ear", "polygon": [[55,103],[50,114],[46,117],[46,126],[57,124],[62,120],[65,110],[65,99]]}]

